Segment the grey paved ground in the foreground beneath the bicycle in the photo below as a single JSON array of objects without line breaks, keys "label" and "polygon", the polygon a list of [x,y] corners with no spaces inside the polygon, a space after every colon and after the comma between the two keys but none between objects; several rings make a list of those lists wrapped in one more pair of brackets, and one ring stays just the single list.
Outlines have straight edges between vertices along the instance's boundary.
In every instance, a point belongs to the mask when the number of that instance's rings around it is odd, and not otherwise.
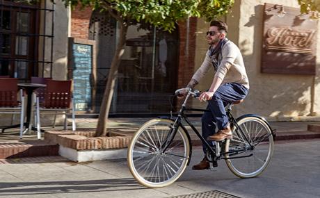
[{"label": "grey paved ground in the foreground beneath the bicycle", "polygon": [[320,139],[278,142],[266,171],[239,179],[219,161],[216,171],[191,170],[202,158],[193,150],[191,165],[166,188],[145,188],[131,176],[126,160],[72,163],[61,157],[24,158],[0,165],[0,197],[160,198],[219,190],[242,198],[315,198],[320,195]]}]

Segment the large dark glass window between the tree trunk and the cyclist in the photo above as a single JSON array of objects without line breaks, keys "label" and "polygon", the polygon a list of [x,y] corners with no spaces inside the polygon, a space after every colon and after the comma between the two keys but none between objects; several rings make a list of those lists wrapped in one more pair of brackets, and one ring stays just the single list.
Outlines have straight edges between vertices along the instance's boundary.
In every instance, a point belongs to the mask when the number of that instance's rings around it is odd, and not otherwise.
[{"label": "large dark glass window between the tree trunk and the cyclist", "polygon": [[179,36],[130,26],[113,113],[168,113],[177,86]]}]

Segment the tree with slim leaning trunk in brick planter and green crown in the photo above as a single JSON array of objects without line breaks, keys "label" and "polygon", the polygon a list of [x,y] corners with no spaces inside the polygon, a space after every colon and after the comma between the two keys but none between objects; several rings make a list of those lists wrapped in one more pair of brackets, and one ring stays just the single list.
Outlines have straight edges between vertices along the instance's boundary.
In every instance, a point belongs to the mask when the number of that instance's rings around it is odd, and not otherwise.
[{"label": "tree with slim leaning trunk in brick planter and green crown", "polygon": [[120,26],[119,40],[109,70],[96,136],[106,135],[106,119],[109,115],[115,80],[121,56],[125,51],[128,26],[147,23],[165,31],[173,31],[175,24],[186,17],[205,17],[207,21],[225,15],[234,0],[62,0],[65,6],[90,6],[114,17]]}]

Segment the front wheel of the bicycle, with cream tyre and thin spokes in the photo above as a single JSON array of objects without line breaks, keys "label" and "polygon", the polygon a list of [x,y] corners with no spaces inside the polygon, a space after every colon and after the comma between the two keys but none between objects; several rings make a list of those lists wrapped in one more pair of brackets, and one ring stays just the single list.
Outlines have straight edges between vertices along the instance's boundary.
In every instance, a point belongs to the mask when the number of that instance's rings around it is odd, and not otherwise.
[{"label": "front wheel of the bicycle, with cream tyre and thin spokes", "polygon": [[161,147],[173,133],[173,125],[170,119],[152,119],[134,133],[127,162],[131,174],[142,185],[150,188],[170,185],[186,169],[190,143],[180,126],[166,151]]}]

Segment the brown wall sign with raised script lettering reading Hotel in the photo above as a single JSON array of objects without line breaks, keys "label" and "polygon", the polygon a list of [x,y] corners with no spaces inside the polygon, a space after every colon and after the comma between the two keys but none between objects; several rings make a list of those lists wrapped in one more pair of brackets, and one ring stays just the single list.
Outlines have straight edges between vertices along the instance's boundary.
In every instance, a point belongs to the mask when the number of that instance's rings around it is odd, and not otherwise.
[{"label": "brown wall sign with raised script lettering reading Hotel", "polygon": [[298,8],[283,9],[264,4],[261,71],[315,75],[318,22],[301,15]]}]

